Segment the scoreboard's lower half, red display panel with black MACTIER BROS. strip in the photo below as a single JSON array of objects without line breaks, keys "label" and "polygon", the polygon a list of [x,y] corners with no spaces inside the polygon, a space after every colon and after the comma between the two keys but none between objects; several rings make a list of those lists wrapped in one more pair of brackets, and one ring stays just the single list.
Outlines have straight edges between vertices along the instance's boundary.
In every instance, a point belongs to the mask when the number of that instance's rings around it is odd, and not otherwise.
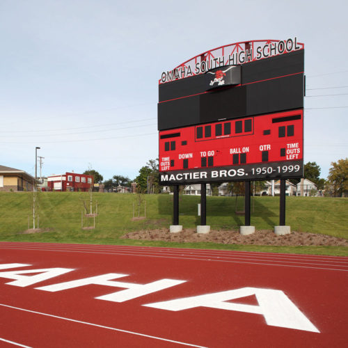
[{"label": "scoreboard's lower half, red display panel with black MACTIER BROS. strip", "polygon": [[303,174],[303,110],[159,132],[161,184]]}]

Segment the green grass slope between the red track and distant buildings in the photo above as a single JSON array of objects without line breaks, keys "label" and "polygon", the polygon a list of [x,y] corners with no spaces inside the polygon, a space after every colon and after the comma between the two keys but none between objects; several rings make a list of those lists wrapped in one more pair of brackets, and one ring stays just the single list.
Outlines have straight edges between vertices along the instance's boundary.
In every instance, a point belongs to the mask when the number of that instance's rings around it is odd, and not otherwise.
[{"label": "green grass slope between the red track and distant buildings", "polygon": [[[168,228],[171,225],[173,196],[144,195],[146,219],[132,221],[133,205],[138,216],[137,195],[120,193],[93,193],[93,205],[98,203],[95,230],[81,229],[81,212],[84,201],[89,207],[89,193],[42,192],[39,193],[40,228],[50,232],[23,235],[29,222],[32,227],[33,193],[0,193],[0,240],[26,242],[71,242],[93,244],[132,244],[191,248],[223,248],[228,250],[272,251],[287,253],[316,253],[348,255],[346,247],[326,246],[239,246],[212,243],[175,244],[120,239],[129,231],[152,228]],[[180,224],[195,228],[200,224],[197,216],[198,196],[180,196]],[[235,214],[235,197],[207,197],[207,225],[214,230],[234,230],[244,225],[244,215]],[[242,210],[244,200],[237,198],[237,211]],[[287,197],[287,225],[292,230],[322,233],[348,239],[348,199]],[[141,216],[144,204],[141,205]],[[251,198],[251,225],[257,229],[272,230],[279,221],[278,197]],[[86,219],[84,225],[92,225]]]}]

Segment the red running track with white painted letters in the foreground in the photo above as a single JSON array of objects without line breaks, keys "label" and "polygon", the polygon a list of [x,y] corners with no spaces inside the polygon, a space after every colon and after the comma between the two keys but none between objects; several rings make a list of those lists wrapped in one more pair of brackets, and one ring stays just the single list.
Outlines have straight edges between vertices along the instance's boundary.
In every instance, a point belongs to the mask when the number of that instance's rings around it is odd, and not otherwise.
[{"label": "red running track with white painted letters in the foreground", "polygon": [[[0,269],[1,347],[344,347],[348,342],[348,258],[0,242],[0,267],[16,263],[26,266]],[[43,272],[16,271],[55,267],[73,270],[31,285],[7,284]],[[106,281],[56,292],[37,289],[111,273],[127,276],[110,278],[118,287]],[[127,284],[161,279],[182,283],[122,302],[96,299],[125,291]],[[177,311],[145,306],[242,288],[262,289],[271,301],[270,290],[280,290],[316,331],[267,324],[267,315],[241,311],[260,308],[255,294]]]}]

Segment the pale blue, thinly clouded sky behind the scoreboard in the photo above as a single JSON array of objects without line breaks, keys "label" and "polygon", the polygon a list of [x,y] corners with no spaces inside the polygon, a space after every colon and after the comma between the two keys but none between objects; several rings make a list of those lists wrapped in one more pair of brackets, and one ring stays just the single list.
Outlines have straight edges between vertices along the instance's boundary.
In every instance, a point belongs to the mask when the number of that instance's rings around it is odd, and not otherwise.
[{"label": "pale blue, thinly clouded sky behind the scoreboard", "polygon": [[42,175],[91,167],[133,179],[158,156],[162,71],[232,42],[296,36],[305,162],[326,177],[348,156],[347,10],[335,0],[1,0],[0,164],[33,175],[40,146]]}]

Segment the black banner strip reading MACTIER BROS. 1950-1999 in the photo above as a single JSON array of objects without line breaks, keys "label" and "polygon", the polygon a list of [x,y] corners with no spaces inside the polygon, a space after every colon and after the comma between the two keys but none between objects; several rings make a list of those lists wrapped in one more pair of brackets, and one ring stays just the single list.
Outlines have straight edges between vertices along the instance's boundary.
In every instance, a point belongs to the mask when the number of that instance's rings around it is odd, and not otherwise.
[{"label": "black banner strip reading MACTIER BROS. 1950-1999", "polygon": [[160,172],[159,184],[177,185],[204,182],[274,180],[291,177],[303,177],[303,160]]}]

